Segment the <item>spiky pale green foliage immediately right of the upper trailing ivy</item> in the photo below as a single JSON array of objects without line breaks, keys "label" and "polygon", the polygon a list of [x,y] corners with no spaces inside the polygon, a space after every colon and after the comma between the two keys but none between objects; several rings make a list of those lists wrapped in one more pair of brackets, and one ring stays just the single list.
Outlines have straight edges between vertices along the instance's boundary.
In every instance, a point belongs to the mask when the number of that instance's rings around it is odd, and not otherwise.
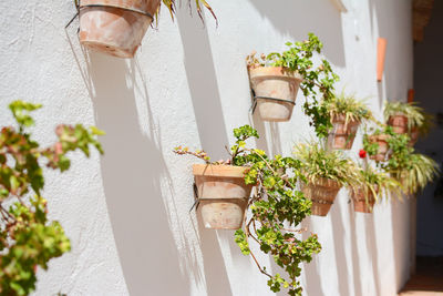
[{"label": "spiky pale green foliage immediately right of the upper trailing ivy", "polygon": [[329,112],[329,116],[333,120],[340,115],[344,115],[346,123],[375,121],[372,112],[363,101],[357,100],[354,94],[346,95],[344,91],[334,94],[329,101],[322,103]]}]

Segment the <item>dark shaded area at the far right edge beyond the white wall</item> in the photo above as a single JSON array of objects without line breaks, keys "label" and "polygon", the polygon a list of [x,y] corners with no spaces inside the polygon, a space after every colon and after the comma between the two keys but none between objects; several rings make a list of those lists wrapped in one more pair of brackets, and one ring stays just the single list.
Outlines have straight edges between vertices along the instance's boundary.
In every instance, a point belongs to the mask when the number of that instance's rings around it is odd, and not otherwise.
[{"label": "dark shaded area at the far right edge beyond the white wall", "polygon": [[[426,112],[437,116],[437,125],[416,149],[431,155],[440,165],[443,162],[443,93],[441,69],[443,68],[443,2],[434,1],[424,40],[414,44],[415,101]],[[440,114],[440,115],[439,115]],[[424,188],[418,196],[416,254],[419,256],[442,256],[443,235],[443,180]]]}]

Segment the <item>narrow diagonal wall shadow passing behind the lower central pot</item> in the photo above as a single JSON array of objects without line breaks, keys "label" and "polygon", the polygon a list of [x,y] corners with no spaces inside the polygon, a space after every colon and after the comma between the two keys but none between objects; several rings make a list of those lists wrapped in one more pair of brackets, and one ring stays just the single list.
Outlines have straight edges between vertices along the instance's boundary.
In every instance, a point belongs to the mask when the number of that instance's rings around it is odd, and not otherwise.
[{"label": "narrow diagonal wall shadow passing behind the lower central pot", "polygon": [[[186,10],[178,10],[177,22],[200,145],[213,160],[226,159],[225,146],[229,144],[229,140],[223,115],[209,37],[205,28],[198,29],[202,25],[199,19],[189,18],[187,13]],[[200,236],[207,295],[233,295],[217,233],[213,229],[206,229],[200,222],[198,222],[197,228]],[[230,248],[234,247],[233,238],[229,239],[226,236],[219,236],[219,238],[228,239]]]}]

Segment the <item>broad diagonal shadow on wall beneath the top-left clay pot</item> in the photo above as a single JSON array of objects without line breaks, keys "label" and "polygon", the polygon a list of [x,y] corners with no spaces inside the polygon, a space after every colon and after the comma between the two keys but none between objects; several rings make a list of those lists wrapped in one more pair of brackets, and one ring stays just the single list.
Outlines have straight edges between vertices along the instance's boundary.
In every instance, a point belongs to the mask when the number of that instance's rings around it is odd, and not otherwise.
[{"label": "broad diagonal shadow on wall beneath the top-left clay pot", "polygon": [[[134,64],[99,53],[89,58],[86,85],[96,123],[106,132],[103,187],[128,292],[145,295],[148,286],[156,295],[187,295],[189,279],[182,273],[161,192],[161,180],[169,178],[158,145],[161,130],[141,130],[134,89],[127,85],[135,84]],[[148,105],[147,93],[143,99]],[[165,278],[176,284],[158,285]]]}]

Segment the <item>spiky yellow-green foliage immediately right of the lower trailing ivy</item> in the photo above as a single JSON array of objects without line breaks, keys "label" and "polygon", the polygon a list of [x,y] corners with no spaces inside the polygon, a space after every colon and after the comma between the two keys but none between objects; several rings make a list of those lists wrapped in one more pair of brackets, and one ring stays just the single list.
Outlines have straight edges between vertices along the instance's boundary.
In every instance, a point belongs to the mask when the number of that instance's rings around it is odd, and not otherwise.
[{"label": "spiky yellow-green foliage immediately right of the lower trailing ivy", "polygon": [[344,159],[341,151],[327,151],[311,142],[296,145],[293,155],[301,162],[301,170],[310,184],[316,184],[320,177],[333,180],[340,185],[359,184],[356,164]]}]

